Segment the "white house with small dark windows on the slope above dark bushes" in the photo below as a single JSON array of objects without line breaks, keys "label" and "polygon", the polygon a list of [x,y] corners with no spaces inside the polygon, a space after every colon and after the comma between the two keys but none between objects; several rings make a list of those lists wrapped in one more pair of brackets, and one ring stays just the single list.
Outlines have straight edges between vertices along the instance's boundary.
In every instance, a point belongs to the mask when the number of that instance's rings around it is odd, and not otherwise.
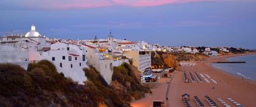
[{"label": "white house with small dark windows on the slope above dark bushes", "polygon": [[54,63],[57,71],[65,77],[70,77],[79,84],[84,84],[87,77],[83,68],[87,68],[87,48],[57,42],[51,45],[51,50],[42,54],[43,59]]}]

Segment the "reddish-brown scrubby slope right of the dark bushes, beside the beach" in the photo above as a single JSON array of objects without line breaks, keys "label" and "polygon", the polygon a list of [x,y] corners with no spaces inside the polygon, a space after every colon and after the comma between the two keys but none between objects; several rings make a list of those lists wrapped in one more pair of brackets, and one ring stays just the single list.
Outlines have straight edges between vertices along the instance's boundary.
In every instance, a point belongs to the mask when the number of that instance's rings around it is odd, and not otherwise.
[{"label": "reddish-brown scrubby slope right of the dark bushes, beside the beach", "polygon": [[127,63],[114,67],[110,86],[107,85],[107,82],[93,66],[85,68],[84,71],[88,77],[85,85],[91,85],[88,88],[95,93],[91,97],[98,96],[97,103],[104,106],[130,106],[130,101],[140,99],[144,97],[145,93],[151,92],[149,88],[138,82],[137,76]]}]

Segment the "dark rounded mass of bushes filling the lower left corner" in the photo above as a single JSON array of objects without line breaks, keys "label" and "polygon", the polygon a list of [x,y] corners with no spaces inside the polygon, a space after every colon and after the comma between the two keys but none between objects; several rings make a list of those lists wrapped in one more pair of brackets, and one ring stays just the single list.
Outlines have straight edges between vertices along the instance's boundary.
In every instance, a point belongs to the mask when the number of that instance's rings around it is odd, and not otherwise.
[{"label": "dark rounded mass of bushes filling the lower left corner", "polygon": [[93,106],[85,86],[77,85],[48,60],[30,63],[28,70],[0,64],[0,106]]}]

